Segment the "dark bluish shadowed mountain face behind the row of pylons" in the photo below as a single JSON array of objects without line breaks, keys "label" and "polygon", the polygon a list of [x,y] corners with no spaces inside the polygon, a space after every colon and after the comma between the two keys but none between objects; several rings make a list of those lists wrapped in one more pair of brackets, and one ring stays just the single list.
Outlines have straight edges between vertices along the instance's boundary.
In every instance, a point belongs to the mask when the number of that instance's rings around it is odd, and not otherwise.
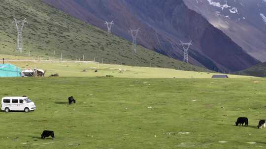
[{"label": "dark bluish shadowed mountain face behind the row of pylons", "polygon": [[129,28],[139,27],[138,44],[176,59],[183,59],[180,40],[192,40],[190,63],[211,70],[239,71],[259,63],[183,0],[44,1],[100,28],[113,20],[112,32],[128,40]]}]

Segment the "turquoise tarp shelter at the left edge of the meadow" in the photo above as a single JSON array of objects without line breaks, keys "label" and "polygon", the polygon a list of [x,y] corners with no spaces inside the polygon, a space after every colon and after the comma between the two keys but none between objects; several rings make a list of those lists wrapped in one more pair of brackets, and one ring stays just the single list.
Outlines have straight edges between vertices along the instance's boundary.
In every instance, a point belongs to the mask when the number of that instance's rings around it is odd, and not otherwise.
[{"label": "turquoise tarp shelter at the left edge of the meadow", "polygon": [[0,77],[21,76],[21,69],[12,64],[0,64]]}]

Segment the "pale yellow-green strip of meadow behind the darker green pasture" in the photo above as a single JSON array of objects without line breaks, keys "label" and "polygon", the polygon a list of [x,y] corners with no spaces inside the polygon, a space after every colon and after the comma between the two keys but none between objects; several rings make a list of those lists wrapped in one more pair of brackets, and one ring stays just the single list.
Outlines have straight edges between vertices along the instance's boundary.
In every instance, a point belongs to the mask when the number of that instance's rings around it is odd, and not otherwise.
[{"label": "pale yellow-green strip of meadow behind the darker green pasture", "polygon": [[[40,61],[12,61],[8,62],[22,69],[38,68],[46,70],[46,76],[59,74],[59,76],[101,77],[112,75],[114,77],[130,78],[211,78],[214,73],[181,71],[169,68],[132,67],[114,64],[99,64],[95,62],[40,62]],[[98,73],[95,73],[98,70]],[[229,75],[231,78],[252,77],[245,75]]]}]

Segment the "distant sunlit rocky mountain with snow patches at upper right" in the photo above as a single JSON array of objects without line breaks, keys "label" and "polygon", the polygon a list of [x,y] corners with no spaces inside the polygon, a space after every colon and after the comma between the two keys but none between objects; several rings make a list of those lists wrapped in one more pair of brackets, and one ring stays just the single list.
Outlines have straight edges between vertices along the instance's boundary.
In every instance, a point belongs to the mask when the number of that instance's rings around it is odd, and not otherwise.
[{"label": "distant sunlit rocky mountain with snow patches at upper right", "polygon": [[266,0],[184,0],[253,57],[266,61]]}]

